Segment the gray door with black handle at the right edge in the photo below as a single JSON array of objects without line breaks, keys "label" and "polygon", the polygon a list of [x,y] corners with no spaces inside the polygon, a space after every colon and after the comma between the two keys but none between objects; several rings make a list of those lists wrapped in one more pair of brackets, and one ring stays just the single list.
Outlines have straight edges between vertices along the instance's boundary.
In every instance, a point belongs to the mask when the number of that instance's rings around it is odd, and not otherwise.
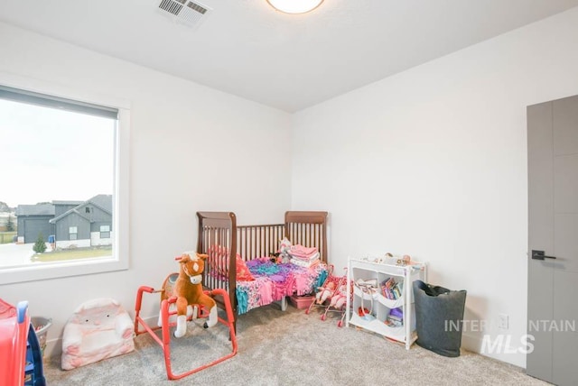
[{"label": "gray door with black handle at the right edge", "polygon": [[534,350],[527,354],[527,373],[557,385],[574,385],[578,381],[578,96],[528,106],[527,143],[527,333],[535,338],[530,340]]}]

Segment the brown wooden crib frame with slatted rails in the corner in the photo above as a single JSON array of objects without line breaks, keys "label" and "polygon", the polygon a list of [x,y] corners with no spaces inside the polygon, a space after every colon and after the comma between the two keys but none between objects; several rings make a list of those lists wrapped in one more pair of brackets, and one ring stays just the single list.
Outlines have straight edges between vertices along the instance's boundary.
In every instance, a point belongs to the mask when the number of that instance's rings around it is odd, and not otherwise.
[{"label": "brown wooden crib frame with slatted rails in the corner", "polygon": [[[268,257],[279,250],[286,237],[292,244],[316,247],[320,261],[327,259],[327,212],[288,211],[284,224],[237,225],[233,212],[197,212],[199,237],[197,252],[210,254],[205,266],[203,283],[207,289],[225,289],[231,299],[233,312],[238,316],[237,256],[243,262]],[[219,258],[215,247],[219,247]],[[222,299],[216,299],[224,308]],[[286,299],[282,299],[282,308]],[[236,317],[237,319],[237,317]]]}]

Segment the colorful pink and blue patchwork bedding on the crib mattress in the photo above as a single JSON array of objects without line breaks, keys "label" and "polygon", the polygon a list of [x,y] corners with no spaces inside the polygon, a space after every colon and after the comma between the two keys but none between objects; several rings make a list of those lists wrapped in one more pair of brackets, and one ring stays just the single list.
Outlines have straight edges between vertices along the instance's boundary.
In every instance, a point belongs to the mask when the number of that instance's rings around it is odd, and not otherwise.
[{"label": "colorful pink and blue patchwork bedding on the crib mattress", "polygon": [[313,293],[327,277],[325,264],[305,268],[291,262],[271,262],[266,257],[247,262],[247,268],[255,280],[237,281],[238,315],[285,296]]}]

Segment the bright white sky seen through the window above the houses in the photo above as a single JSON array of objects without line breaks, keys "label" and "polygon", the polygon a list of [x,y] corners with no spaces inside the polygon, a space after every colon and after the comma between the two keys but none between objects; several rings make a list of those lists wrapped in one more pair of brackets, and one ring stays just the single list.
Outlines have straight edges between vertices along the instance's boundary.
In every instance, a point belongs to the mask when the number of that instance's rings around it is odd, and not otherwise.
[{"label": "bright white sky seen through the window above the houses", "polygon": [[116,121],[0,99],[0,201],[112,194]]}]

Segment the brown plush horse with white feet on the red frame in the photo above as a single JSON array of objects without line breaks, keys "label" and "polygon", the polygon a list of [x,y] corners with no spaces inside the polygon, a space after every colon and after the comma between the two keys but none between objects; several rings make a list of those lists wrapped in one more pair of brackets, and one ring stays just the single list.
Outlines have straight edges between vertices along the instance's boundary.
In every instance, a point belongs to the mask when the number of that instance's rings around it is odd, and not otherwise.
[{"label": "brown plush horse with white feet on the red frame", "polygon": [[[174,283],[172,296],[177,298],[177,327],[174,337],[181,337],[187,331],[187,317],[196,312],[200,315],[209,315],[204,327],[215,326],[218,322],[218,311],[215,300],[202,290],[202,271],[205,268],[205,260],[208,255],[200,253],[183,253],[175,258],[180,265],[179,277]],[[171,294],[163,295],[168,299]],[[195,307],[195,308],[193,308]],[[197,308],[198,307],[198,308]],[[202,312],[204,308],[204,313]],[[196,312],[195,312],[196,311]]]}]

